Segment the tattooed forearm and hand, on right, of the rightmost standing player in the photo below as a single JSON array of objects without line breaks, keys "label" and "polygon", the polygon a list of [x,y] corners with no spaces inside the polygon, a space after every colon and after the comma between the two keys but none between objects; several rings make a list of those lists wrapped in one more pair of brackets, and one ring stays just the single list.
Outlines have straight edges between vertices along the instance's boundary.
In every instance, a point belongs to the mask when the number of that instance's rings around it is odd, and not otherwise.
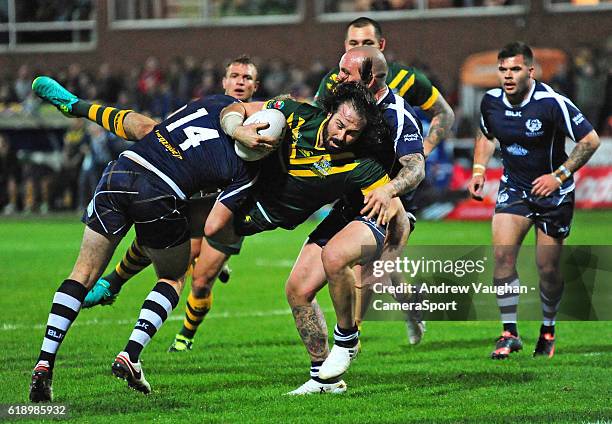
[{"label": "tattooed forearm and hand, on right, of the rightmost standing player", "polygon": [[[593,130],[582,137],[567,160],[552,174],[544,174],[533,180],[531,193],[536,196],[549,196],[557,190],[571,174],[579,170],[593,156],[600,145],[599,136]],[[561,169],[569,172],[565,175]]]}]

